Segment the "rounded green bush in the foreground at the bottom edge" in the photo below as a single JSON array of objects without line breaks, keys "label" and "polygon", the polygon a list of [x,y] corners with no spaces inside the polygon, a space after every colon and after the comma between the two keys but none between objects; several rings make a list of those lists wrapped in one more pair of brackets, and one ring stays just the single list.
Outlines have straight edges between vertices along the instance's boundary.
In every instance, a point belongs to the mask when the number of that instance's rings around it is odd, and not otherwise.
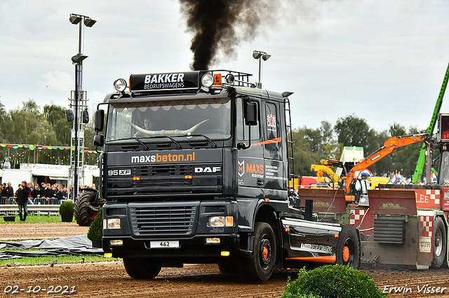
[{"label": "rounded green bush in the foreground at the bottom edge", "polygon": [[387,297],[377,288],[373,278],[343,265],[326,265],[311,271],[300,269],[297,280],[288,279],[282,298]]}]

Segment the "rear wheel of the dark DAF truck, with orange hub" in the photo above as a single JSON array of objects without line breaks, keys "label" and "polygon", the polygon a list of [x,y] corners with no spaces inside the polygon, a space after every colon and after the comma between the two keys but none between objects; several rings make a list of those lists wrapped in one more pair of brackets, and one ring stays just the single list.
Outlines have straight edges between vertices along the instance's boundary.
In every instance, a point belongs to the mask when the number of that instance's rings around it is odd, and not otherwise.
[{"label": "rear wheel of the dark DAF truck, with orange hub", "polygon": [[360,247],[356,229],[351,225],[344,225],[338,236],[336,263],[357,269],[359,259]]}]

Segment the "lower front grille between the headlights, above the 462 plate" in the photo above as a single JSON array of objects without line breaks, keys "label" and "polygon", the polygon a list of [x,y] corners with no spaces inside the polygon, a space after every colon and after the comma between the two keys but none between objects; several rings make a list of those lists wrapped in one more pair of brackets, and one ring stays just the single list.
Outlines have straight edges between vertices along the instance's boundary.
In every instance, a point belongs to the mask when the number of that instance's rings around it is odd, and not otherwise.
[{"label": "lower front grille between the headlights, above the 462 plate", "polygon": [[196,206],[130,207],[135,236],[189,236],[193,232]]}]

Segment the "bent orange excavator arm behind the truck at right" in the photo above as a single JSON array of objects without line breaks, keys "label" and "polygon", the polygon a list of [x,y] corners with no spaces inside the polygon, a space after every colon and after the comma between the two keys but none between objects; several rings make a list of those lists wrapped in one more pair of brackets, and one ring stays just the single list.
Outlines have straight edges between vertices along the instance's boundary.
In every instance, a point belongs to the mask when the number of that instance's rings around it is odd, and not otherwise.
[{"label": "bent orange excavator arm behind the truck at right", "polygon": [[352,180],[354,180],[357,171],[363,171],[365,169],[368,169],[368,167],[380,161],[380,159],[386,157],[397,148],[401,148],[403,146],[424,141],[424,139],[426,139],[426,136],[428,136],[428,134],[414,134],[411,136],[393,136],[392,138],[385,141],[384,146],[382,146],[382,148],[374,152],[372,155],[361,160],[361,162],[358,162],[358,164],[352,167],[352,169],[349,171],[345,179],[344,183],[345,193],[349,195],[351,183]]}]

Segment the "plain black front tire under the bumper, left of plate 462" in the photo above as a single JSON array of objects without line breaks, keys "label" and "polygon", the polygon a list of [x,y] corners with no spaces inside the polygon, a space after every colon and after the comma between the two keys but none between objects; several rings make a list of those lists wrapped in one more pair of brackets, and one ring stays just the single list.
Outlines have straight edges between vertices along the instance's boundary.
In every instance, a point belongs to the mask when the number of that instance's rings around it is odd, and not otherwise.
[{"label": "plain black front tire under the bumper, left of plate 462", "polygon": [[132,278],[152,279],[161,272],[162,262],[152,258],[123,257],[126,273]]}]

